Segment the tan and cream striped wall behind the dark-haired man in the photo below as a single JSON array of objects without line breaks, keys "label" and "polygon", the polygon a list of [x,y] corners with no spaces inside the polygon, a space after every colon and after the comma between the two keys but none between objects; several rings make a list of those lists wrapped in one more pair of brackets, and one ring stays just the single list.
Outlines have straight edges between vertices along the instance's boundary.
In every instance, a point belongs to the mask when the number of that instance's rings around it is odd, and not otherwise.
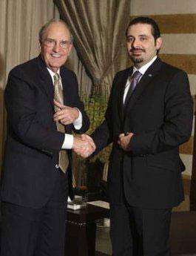
[{"label": "tan and cream striped wall behind the dark-haired man", "polygon": [[[160,58],[186,70],[193,99],[196,94],[196,1],[195,0],[131,0],[130,16],[151,16],[160,25],[163,47]],[[195,122],[195,119],[194,119]],[[195,125],[193,125],[195,126]],[[180,147],[186,164],[183,173],[192,175],[192,137]]]}]

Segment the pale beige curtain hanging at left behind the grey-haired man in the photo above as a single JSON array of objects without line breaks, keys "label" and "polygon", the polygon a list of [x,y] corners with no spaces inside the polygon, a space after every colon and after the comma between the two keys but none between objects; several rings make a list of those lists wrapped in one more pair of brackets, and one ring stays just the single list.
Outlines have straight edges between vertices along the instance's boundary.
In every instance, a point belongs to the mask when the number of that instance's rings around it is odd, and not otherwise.
[{"label": "pale beige curtain hanging at left behind the grey-haired man", "polygon": [[3,93],[7,74],[38,55],[38,30],[58,17],[53,0],[0,0],[0,167],[5,137]]}]

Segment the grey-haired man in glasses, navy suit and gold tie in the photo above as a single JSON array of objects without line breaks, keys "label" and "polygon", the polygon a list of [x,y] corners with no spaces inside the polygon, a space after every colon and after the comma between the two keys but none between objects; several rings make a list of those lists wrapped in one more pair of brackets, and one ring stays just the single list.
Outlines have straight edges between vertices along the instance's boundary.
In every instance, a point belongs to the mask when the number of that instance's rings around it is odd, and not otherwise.
[{"label": "grey-haired man in glasses, navy suit and gold tie", "polygon": [[89,128],[75,73],[64,67],[72,49],[67,24],[45,24],[39,44],[40,56],[10,71],[4,93],[1,256],[64,256],[70,149],[84,145],[71,133]]}]

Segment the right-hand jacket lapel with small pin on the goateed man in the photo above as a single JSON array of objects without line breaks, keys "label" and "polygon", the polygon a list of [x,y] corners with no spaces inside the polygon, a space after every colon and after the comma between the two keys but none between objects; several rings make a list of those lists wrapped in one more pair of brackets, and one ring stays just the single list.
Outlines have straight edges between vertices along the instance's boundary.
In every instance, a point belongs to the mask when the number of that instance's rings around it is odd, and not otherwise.
[{"label": "right-hand jacket lapel with small pin on the goateed man", "polygon": [[158,70],[160,70],[161,64],[162,62],[159,58],[157,58],[155,59],[155,62],[153,62],[152,65],[146,70],[140,82],[138,82],[138,85],[136,85],[135,91],[132,93],[129,101],[127,102],[125,114],[129,113],[129,111],[134,107],[137,99],[141,96],[152,79],[154,79],[155,75],[158,73]]}]

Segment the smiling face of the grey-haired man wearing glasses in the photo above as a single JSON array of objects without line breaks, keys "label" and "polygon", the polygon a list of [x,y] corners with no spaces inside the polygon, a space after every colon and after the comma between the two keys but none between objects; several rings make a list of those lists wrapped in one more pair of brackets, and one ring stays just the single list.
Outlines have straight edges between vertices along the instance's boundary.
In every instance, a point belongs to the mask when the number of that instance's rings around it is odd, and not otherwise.
[{"label": "smiling face of the grey-haired man wearing glasses", "polygon": [[[51,42],[54,43],[51,44]],[[69,44],[64,48],[61,47],[62,42],[69,42]],[[70,50],[72,49],[70,31],[62,22],[53,22],[44,30],[43,38],[39,45],[41,58],[47,67],[56,73],[70,55]]]}]

